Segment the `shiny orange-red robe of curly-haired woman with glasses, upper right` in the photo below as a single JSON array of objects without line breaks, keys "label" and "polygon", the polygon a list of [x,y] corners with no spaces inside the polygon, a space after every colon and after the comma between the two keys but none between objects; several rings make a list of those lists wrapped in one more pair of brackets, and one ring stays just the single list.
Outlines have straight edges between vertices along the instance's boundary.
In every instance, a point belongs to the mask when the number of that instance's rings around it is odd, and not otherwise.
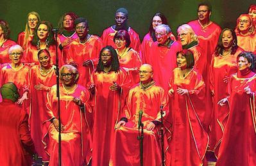
[{"label": "shiny orange-red robe of curly-haired woman with glasses, upper right", "polygon": [[252,51],[256,53],[256,33],[243,36],[239,33],[237,35],[237,45],[245,51]]}]

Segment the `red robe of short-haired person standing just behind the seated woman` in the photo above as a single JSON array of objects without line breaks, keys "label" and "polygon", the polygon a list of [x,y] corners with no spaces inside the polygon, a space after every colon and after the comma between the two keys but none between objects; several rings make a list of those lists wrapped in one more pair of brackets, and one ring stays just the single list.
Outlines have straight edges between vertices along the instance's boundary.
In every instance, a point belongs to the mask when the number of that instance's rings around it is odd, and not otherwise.
[{"label": "red robe of short-haired person standing just behind the seated woman", "polygon": [[[80,43],[79,38],[72,41],[67,54],[67,63],[76,62],[78,64],[78,84],[87,86],[87,83],[90,81],[90,75],[98,64],[99,52],[102,48],[101,38],[93,34],[90,35],[90,38],[85,43]],[[92,62],[92,66],[83,66],[83,62],[87,60]]]}]

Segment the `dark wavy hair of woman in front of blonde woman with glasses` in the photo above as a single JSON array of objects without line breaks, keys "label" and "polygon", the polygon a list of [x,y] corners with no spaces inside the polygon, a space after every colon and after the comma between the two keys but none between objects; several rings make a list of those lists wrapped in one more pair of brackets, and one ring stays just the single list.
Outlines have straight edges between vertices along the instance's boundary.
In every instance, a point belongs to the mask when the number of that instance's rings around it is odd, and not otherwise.
[{"label": "dark wavy hair of woman in front of blonde woman with glasses", "polygon": [[34,36],[33,36],[33,40],[31,41],[31,44],[36,46],[37,45],[37,41],[39,40],[38,36],[37,36],[37,30],[38,27],[44,24],[47,26],[47,31],[49,33],[48,37],[47,37],[47,41],[49,41],[49,45],[55,45],[55,39],[53,37],[53,31],[51,29],[53,29],[53,26],[51,25],[51,22],[49,21],[40,21],[37,24],[37,27],[35,27],[35,31],[34,31]]}]

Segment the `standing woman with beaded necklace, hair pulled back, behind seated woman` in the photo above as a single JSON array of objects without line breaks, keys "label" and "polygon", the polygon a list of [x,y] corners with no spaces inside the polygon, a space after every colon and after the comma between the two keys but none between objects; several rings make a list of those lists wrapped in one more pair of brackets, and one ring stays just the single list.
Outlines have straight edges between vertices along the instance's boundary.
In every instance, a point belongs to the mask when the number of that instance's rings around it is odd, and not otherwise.
[{"label": "standing woman with beaded necklace, hair pulled back, behind seated woman", "polygon": [[32,66],[30,70],[30,130],[38,156],[47,162],[49,159],[42,144],[42,122],[46,119],[46,94],[56,84],[56,74],[47,49],[38,52],[38,60],[40,65]]}]

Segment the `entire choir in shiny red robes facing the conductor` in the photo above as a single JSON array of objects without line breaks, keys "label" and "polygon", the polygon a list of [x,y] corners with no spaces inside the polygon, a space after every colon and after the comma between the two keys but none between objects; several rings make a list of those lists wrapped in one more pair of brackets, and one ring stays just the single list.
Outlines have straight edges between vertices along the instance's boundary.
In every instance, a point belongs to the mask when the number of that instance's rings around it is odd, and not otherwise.
[{"label": "entire choir in shiny red robes facing the conductor", "polygon": [[256,4],[225,29],[210,20],[210,4],[198,4],[197,13],[177,36],[155,13],[142,43],[125,8],[101,37],[73,12],[55,31],[31,11],[17,41],[0,20],[0,100],[8,102],[4,89],[13,82],[33,139],[23,151],[13,144],[4,152],[0,139],[1,165],[31,165],[35,154],[43,165],[58,165],[58,132],[62,165],[140,165],[140,111],[144,165],[256,165]]}]

